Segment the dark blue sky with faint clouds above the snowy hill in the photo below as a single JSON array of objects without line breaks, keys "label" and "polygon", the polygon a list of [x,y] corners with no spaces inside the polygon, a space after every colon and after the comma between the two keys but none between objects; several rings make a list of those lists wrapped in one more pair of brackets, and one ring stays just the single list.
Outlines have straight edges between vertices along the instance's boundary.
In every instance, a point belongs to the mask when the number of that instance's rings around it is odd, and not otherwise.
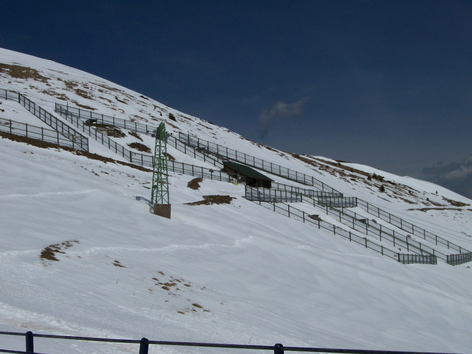
[{"label": "dark blue sky with faint clouds above the snowy hill", "polygon": [[472,1],[8,1],[0,47],[472,197]]}]

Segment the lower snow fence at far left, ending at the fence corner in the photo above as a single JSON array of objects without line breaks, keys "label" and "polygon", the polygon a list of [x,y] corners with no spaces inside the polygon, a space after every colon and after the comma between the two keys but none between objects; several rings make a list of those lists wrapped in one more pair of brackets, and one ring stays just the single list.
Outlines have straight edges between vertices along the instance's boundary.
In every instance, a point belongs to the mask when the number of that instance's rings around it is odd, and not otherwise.
[{"label": "lower snow fence at far left, ending at the fence corner", "polygon": [[75,149],[75,135],[59,133],[57,130],[45,129],[42,126],[33,126],[27,123],[17,122],[11,119],[0,118],[0,130],[9,134],[26,136],[27,138],[41,140],[47,143],[58,144]]}]

